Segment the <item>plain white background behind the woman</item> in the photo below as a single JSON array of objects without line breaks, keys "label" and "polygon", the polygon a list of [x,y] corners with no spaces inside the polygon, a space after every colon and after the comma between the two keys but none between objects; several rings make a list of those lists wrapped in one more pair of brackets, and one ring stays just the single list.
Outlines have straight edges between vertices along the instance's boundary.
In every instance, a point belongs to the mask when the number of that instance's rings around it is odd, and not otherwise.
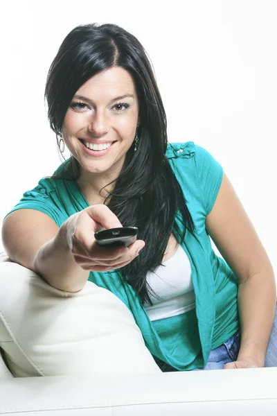
[{"label": "plain white background behind the woman", "polygon": [[1,220],[60,164],[46,75],[69,31],[94,21],[123,26],[141,41],[169,141],[193,140],[222,164],[277,272],[274,0],[1,3]]}]

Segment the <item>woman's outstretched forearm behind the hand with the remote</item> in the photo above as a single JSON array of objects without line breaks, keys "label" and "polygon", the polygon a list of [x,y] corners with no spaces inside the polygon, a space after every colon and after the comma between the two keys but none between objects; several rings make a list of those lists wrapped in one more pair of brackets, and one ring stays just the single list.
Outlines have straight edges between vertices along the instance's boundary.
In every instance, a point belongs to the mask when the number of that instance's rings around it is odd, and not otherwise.
[{"label": "woman's outstretched forearm behind the hand with the remote", "polygon": [[67,292],[80,291],[86,284],[89,271],[75,263],[66,244],[66,227],[60,227],[54,239],[48,241],[37,252],[33,270],[51,286]]}]

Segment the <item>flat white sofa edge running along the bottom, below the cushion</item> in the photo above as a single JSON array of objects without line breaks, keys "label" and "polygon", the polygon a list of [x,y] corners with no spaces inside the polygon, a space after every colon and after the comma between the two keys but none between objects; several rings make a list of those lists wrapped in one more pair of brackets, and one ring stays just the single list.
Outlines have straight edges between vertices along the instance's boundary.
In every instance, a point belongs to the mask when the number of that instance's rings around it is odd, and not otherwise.
[{"label": "flat white sofa edge running along the bottom, below the cushion", "polygon": [[276,378],[277,368],[254,368],[11,379],[0,381],[0,414],[275,416]]}]

